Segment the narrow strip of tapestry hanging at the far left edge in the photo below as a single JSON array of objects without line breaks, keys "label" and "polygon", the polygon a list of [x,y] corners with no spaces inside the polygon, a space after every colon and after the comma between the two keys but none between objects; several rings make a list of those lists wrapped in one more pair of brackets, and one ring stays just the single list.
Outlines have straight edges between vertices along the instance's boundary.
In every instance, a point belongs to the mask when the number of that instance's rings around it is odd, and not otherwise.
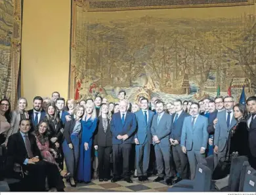
[{"label": "narrow strip of tapestry hanging at the far left edge", "polygon": [[12,106],[18,96],[22,0],[0,0],[0,97]]}]

